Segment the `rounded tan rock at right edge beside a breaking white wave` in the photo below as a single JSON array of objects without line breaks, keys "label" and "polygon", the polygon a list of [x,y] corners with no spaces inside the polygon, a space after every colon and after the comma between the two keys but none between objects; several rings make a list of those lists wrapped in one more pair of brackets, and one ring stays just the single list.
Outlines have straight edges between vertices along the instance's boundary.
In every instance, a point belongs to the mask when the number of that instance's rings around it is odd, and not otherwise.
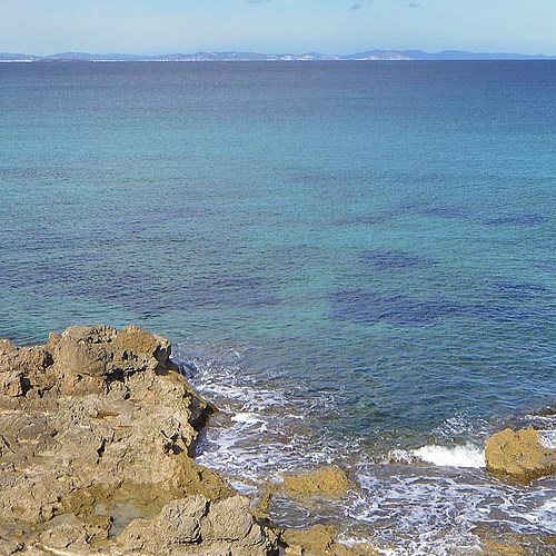
[{"label": "rounded tan rock at right edge beside a breaking white wave", "polygon": [[518,479],[530,480],[556,473],[556,450],[543,446],[533,427],[496,433],[486,441],[485,456],[490,471]]}]

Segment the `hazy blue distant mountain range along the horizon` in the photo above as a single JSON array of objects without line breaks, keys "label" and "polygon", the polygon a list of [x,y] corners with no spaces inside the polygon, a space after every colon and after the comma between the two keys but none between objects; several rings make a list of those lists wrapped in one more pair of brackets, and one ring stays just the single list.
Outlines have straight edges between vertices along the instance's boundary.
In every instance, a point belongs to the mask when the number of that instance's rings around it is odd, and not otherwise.
[{"label": "hazy blue distant mountain range along the horizon", "polygon": [[0,52],[0,62],[232,62],[232,61],[375,61],[375,60],[556,60],[556,56],[518,54],[505,52],[467,52],[464,50],[443,50],[424,52],[423,50],[368,50],[355,54],[322,54],[307,52],[302,54],[262,54],[258,52],[195,52],[190,54],[91,54],[87,52],[61,52],[51,56],[20,54]]}]

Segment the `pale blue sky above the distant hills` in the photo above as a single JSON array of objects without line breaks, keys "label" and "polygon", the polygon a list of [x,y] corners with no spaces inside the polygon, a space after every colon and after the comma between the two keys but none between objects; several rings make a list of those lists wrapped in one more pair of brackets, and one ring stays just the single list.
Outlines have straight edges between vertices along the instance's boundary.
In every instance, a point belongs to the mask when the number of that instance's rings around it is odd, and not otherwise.
[{"label": "pale blue sky above the distant hills", "polygon": [[556,0],[0,0],[0,51],[556,54]]}]

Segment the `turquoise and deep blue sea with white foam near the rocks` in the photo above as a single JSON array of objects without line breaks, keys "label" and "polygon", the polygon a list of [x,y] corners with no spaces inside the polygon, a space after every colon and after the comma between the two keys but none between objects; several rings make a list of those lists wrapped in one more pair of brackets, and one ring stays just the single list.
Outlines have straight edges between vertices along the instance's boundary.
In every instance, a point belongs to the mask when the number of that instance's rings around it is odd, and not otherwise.
[{"label": "turquoise and deep blue sea with white foam near the rocks", "polygon": [[[385,555],[556,535],[556,62],[0,64],[0,336],[135,322],[220,413],[198,460]],[[548,550],[548,549],[547,549]],[[546,553],[548,554],[548,552]]]}]

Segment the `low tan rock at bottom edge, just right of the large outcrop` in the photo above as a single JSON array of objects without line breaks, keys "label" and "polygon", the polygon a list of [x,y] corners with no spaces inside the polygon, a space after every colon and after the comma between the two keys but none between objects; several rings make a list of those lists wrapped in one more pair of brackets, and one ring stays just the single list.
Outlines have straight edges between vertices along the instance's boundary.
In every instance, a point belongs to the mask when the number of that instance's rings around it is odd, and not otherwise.
[{"label": "low tan rock at bottom edge, just right of the large outcrop", "polygon": [[309,529],[287,529],[280,542],[286,556],[378,556],[367,544],[346,546],[337,540],[335,527],[315,525]]}]

